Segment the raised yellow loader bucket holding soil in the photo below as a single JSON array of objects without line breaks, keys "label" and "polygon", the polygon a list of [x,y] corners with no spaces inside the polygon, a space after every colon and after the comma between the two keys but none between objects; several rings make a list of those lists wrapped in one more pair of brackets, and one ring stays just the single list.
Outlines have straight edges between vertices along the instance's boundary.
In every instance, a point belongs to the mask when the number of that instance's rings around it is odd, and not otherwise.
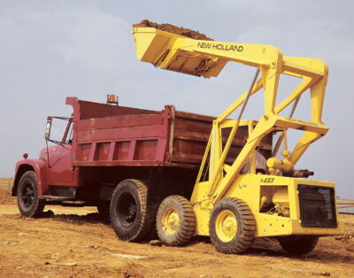
[{"label": "raised yellow loader bucket holding soil", "polygon": [[210,41],[195,40],[154,27],[133,27],[133,35],[137,58],[166,70],[210,78],[218,76],[227,64],[226,60],[195,51],[197,43]]}]

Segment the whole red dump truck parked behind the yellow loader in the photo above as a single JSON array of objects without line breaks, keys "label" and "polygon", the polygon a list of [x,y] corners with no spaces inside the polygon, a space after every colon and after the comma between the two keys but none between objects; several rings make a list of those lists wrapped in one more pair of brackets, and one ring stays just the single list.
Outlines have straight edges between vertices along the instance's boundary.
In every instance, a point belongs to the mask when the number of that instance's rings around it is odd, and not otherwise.
[{"label": "whole red dump truck parked behind the yellow loader", "polygon": [[[175,110],[124,107],[108,96],[106,104],[67,97],[70,117],[47,119],[39,158],[24,154],[16,166],[12,196],[19,212],[39,217],[45,205],[94,205],[120,239],[156,235],[158,205],[170,195],[190,197],[215,118]],[[59,125],[60,121],[64,125]],[[64,126],[59,139],[51,130]],[[237,133],[240,151],[247,128]],[[226,140],[226,138],[225,138]],[[260,151],[271,156],[271,136]]]}]

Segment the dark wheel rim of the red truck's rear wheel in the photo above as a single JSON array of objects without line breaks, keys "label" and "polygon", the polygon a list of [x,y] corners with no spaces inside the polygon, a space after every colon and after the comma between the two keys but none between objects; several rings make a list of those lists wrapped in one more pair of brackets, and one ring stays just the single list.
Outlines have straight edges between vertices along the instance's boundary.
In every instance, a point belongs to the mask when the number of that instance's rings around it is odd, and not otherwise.
[{"label": "dark wheel rim of the red truck's rear wheel", "polygon": [[133,225],[136,218],[137,206],[135,203],[135,198],[130,194],[123,194],[119,197],[119,202],[117,205],[117,215],[119,222],[124,227],[130,227]]}]

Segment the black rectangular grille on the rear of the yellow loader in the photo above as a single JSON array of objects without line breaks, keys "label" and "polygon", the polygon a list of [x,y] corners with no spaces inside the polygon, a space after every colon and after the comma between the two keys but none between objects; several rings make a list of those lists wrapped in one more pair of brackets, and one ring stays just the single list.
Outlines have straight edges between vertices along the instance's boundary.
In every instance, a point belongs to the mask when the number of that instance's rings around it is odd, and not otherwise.
[{"label": "black rectangular grille on the rear of the yellow loader", "polygon": [[335,189],[305,184],[299,184],[297,189],[302,227],[337,227]]}]

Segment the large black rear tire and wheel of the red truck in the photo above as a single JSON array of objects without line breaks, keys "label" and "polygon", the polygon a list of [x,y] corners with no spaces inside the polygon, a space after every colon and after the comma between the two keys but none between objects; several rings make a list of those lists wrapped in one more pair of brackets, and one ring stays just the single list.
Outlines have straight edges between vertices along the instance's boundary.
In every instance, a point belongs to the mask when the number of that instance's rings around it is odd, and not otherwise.
[{"label": "large black rear tire and wheel of the red truck", "polygon": [[121,181],[114,189],[110,215],[120,240],[138,242],[151,230],[153,217],[148,211],[148,188],[138,180]]}]

